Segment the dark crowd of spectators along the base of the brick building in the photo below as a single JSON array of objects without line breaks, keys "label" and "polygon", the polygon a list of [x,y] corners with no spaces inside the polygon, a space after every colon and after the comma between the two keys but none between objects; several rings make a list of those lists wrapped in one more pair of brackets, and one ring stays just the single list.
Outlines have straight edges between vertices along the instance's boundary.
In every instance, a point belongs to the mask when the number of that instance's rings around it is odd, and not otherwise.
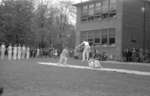
[{"label": "dark crowd of spectators along the base of the brick building", "polygon": [[[108,55],[107,52],[99,53],[96,51],[96,48],[91,46],[90,49],[90,58],[94,58],[100,61],[105,60],[113,60],[113,57]],[[81,53],[83,51],[83,48],[81,47],[78,50],[75,50],[75,58],[81,59]],[[150,50],[143,50],[142,48],[131,48],[131,49],[124,49],[122,52],[122,60],[124,62],[146,62],[150,63]]]}]

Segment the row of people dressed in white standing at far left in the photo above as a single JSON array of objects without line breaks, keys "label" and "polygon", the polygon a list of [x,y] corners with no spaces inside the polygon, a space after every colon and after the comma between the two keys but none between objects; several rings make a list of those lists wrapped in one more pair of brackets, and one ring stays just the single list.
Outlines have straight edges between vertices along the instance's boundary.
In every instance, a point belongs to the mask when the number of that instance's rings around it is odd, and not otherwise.
[{"label": "row of people dressed in white standing at far left", "polygon": [[5,53],[8,53],[8,59],[29,59],[30,57],[30,48],[25,46],[11,46],[9,45],[7,48],[4,44],[0,46],[0,54],[1,59],[4,59]]}]

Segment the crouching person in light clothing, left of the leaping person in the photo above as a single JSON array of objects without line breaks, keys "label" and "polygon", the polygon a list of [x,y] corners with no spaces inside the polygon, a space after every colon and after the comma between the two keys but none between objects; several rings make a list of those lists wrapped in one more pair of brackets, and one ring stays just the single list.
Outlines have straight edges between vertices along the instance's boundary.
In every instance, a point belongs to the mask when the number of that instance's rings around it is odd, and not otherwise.
[{"label": "crouching person in light clothing, left of the leaping person", "polygon": [[68,47],[65,47],[60,54],[59,64],[67,64],[68,55]]}]

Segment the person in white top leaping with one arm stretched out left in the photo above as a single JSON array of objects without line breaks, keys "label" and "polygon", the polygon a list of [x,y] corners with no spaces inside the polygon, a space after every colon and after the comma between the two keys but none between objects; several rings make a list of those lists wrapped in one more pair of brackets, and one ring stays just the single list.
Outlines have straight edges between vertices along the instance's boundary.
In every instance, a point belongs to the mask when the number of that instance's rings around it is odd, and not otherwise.
[{"label": "person in white top leaping with one arm stretched out left", "polygon": [[90,45],[88,41],[83,41],[76,48],[83,46],[82,61],[89,60]]}]

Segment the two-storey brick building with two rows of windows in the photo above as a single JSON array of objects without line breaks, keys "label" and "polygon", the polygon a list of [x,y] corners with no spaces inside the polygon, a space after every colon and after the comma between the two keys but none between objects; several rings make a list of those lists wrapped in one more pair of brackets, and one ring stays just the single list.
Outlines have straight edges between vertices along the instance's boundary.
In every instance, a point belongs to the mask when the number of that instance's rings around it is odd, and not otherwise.
[{"label": "two-storey brick building with two rows of windows", "polygon": [[146,0],[90,0],[77,8],[76,45],[82,40],[121,59],[126,48],[150,49],[150,2]]}]

